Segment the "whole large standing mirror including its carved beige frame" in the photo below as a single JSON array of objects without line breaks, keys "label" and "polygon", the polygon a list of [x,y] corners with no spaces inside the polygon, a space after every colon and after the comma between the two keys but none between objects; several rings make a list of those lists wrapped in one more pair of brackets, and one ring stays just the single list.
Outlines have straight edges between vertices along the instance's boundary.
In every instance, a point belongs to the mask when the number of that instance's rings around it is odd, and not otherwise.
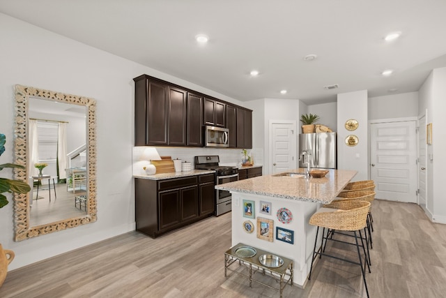
[{"label": "whole large standing mirror including its carved beige frame", "polygon": [[96,103],[15,85],[15,241],[96,221]]}]

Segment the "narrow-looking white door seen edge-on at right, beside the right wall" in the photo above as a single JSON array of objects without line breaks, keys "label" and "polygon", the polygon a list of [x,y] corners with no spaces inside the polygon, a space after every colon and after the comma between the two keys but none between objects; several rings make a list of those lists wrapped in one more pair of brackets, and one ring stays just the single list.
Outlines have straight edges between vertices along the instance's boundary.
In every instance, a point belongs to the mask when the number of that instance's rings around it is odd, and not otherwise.
[{"label": "narrow-looking white door seen edge-on at right, beside the right wall", "polygon": [[418,204],[426,210],[426,116],[418,119]]}]

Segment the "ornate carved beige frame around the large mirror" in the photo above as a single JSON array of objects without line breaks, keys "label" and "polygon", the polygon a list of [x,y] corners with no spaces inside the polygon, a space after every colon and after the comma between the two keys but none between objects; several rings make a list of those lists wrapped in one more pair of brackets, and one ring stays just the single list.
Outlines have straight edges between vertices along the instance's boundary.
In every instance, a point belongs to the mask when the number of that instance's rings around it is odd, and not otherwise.
[{"label": "ornate carved beige frame around the large mirror", "polygon": [[27,175],[27,154],[29,152],[26,142],[28,132],[28,105],[29,97],[39,97],[47,100],[53,100],[60,103],[71,103],[74,105],[82,105],[86,107],[86,114],[88,121],[86,123],[87,137],[88,137],[88,195],[89,200],[87,204],[86,216],[75,218],[66,218],[61,221],[53,223],[46,223],[44,225],[37,225],[36,227],[29,226],[29,193],[14,194],[14,241],[22,241],[32,237],[37,237],[43,234],[66,230],[67,228],[75,228],[78,225],[86,223],[93,223],[97,220],[96,214],[96,102],[93,98],[86,98],[83,96],[75,96],[70,94],[62,94],[56,91],[49,91],[37,89],[34,87],[26,87],[22,85],[15,85],[15,163],[23,165],[22,169],[15,169],[15,179],[28,183]]}]

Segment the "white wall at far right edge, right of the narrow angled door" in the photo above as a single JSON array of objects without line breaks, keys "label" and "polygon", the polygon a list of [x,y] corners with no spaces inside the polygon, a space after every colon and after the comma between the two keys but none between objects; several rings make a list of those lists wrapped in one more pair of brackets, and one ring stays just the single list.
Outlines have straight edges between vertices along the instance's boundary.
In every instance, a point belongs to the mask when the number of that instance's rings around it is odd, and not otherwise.
[{"label": "white wall at far right edge, right of the narrow angled door", "polygon": [[427,215],[432,221],[446,223],[444,168],[446,165],[446,68],[436,68],[420,88],[420,114],[432,123],[432,144],[427,145]]}]

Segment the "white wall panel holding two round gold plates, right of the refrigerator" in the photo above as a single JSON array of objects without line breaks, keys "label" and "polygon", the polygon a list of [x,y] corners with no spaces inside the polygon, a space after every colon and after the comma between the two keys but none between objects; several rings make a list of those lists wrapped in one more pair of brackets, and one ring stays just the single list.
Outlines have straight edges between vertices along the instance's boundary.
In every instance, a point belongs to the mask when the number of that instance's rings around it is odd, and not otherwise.
[{"label": "white wall panel holding two round gold plates, right of the refrigerator", "polygon": [[[356,119],[360,124],[355,131],[347,131],[344,124],[348,119]],[[368,173],[368,119],[367,90],[337,95],[337,167],[339,170],[356,170],[353,181],[367,180]],[[359,142],[348,147],[345,139],[356,135]]]}]

